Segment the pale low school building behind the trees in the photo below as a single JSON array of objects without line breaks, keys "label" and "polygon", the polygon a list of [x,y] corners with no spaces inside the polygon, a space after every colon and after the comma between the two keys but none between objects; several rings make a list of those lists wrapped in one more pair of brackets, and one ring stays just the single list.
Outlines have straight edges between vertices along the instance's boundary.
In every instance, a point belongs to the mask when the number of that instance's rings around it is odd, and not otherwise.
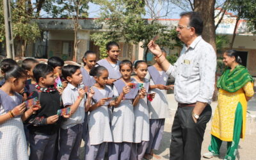
[{"label": "pale low school building behind the trees", "polygon": [[[216,10],[218,12],[218,10]],[[150,21],[150,19],[148,19]],[[38,40],[34,44],[29,44],[26,50],[26,56],[35,56],[36,58],[50,58],[51,56],[60,56],[63,60],[72,60],[74,46],[74,31],[72,29],[71,19],[49,19],[42,18],[36,20],[43,35],[42,40]],[[159,19],[159,23],[176,28],[179,19]],[[218,22],[218,18],[216,19]],[[227,35],[231,41],[236,17],[232,13],[225,13],[223,20],[216,29],[216,35]],[[96,24],[95,19],[79,19],[80,29],[77,33],[79,40],[77,56],[82,58],[87,50],[92,50],[99,53],[99,47],[93,44],[90,40],[90,35],[99,31],[107,31],[107,26]],[[120,60],[143,60],[145,49],[141,48],[140,44],[127,44],[124,40],[118,42],[120,44]],[[223,51],[228,49],[228,45],[223,46]],[[248,68],[253,76],[256,76],[256,35],[248,32],[246,22],[239,20],[236,29],[236,38],[233,49],[239,51],[243,60],[243,65]],[[180,52],[180,48],[176,47],[173,50],[167,50],[168,54],[176,54]],[[218,57],[222,56],[222,52],[218,52]],[[148,61],[153,63],[152,54],[148,54]],[[79,58],[77,59],[79,62]]]}]

